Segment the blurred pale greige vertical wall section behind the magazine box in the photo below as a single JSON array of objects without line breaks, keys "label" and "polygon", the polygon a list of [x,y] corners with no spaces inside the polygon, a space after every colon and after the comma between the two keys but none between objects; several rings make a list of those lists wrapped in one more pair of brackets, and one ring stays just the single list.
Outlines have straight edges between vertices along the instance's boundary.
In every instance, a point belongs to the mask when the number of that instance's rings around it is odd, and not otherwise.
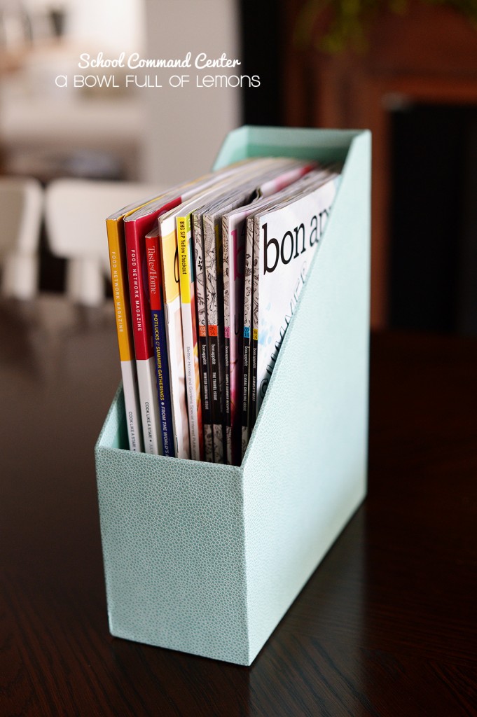
[{"label": "blurred pale greige vertical wall section behind the magazine box", "polygon": [[[238,1],[146,0],[145,10],[144,57],[206,52],[216,58],[225,52],[240,59]],[[240,124],[240,87],[197,87],[194,67],[181,72],[190,74],[185,87],[141,91],[146,109],[141,174],[147,181],[170,184],[208,171],[227,132]],[[237,68],[210,72],[224,75]]]}]

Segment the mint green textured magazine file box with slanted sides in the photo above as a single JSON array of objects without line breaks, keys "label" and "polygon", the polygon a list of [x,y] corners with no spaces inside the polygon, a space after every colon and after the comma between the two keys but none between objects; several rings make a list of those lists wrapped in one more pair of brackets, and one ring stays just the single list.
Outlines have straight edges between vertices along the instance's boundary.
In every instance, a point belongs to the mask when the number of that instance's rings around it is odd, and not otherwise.
[{"label": "mint green textured magazine file box with slanted sides", "polygon": [[240,467],[126,450],[121,388],[96,445],[110,632],[250,665],[366,493],[370,136],[244,127],[245,156],[344,160]]}]

